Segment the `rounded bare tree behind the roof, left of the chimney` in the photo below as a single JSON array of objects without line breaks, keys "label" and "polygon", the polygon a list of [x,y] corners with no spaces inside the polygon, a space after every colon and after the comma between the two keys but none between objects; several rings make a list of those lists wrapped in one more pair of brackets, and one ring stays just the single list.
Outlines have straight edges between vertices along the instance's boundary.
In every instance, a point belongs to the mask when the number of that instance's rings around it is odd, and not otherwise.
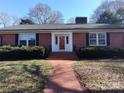
[{"label": "rounded bare tree behind the roof, left of the chimney", "polygon": [[48,5],[39,3],[29,10],[29,18],[38,24],[61,23],[63,15],[59,11],[53,11]]}]

